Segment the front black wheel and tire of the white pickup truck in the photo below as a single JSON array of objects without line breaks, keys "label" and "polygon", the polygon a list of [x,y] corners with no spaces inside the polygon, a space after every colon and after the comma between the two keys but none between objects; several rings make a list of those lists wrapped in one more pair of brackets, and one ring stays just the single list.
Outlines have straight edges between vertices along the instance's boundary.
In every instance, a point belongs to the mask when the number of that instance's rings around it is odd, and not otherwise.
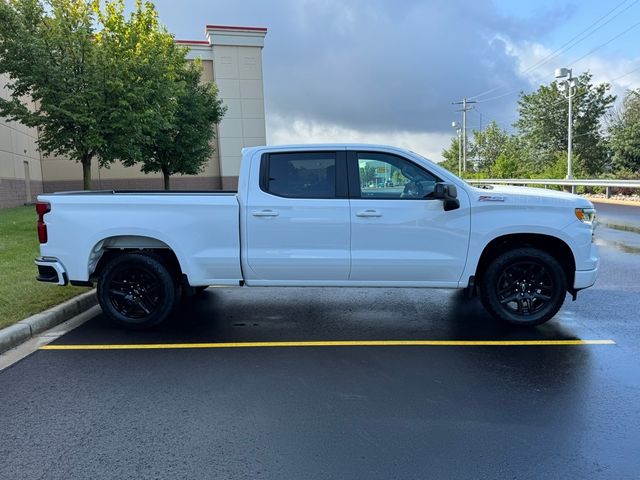
[{"label": "front black wheel and tire of the white pickup truck", "polygon": [[512,325],[540,325],[560,310],[565,272],[553,256],[517,248],[496,257],[482,275],[480,299],[491,315]]}]

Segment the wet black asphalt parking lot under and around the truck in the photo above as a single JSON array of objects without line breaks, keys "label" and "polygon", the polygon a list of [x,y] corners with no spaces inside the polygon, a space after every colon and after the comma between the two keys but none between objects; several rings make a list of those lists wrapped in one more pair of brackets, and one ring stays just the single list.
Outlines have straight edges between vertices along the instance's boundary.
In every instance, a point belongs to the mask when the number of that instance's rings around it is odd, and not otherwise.
[{"label": "wet black asphalt parking lot under and around the truck", "polygon": [[[418,289],[210,289],[148,332],[98,315],[0,372],[0,478],[637,479],[640,233],[613,228],[637,211],[603,208],[596,286],[537,328]],[[394,340],[433,344],[357,343]]]}]

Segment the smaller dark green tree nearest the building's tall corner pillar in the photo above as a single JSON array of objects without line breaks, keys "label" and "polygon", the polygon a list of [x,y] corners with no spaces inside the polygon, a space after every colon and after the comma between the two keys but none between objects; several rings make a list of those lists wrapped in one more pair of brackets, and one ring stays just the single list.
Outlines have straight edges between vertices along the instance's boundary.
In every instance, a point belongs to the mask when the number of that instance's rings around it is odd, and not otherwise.
[{"label": "smaller dark green tree nearest the building's tall corner pillar", "polygon": [[162,172],[165,190],[170,188],[171,175],[200,173],[214,151],[214,125],[226,107],[218,99],[215,85],[200,83],[201,70],[200,63],[194,62],[180,72],[173,118],[158,131],[142,160],[143,172]]}]

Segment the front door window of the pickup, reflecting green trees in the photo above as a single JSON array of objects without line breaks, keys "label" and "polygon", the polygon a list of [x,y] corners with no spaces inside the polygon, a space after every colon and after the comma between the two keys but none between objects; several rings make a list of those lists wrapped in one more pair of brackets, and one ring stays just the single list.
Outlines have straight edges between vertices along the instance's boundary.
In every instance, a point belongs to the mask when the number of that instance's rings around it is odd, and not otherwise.
[{"label": "front door window of the pickup, reflecting green trees", "polygon": [[431,198],[438,179],[415,163],[385,153],[358,153],[361,198]]}]

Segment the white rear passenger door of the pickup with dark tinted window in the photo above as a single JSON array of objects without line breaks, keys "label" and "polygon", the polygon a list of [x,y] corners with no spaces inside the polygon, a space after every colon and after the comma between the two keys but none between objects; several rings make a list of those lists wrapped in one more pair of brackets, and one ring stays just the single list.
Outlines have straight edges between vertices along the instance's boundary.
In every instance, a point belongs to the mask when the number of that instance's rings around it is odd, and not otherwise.
[{"label": "white rear passenger door of the pickup with dark tinted window", "polygon": [[351,248],[345,151],[266,153],[250,185],[246,278],[344,283]]}]

